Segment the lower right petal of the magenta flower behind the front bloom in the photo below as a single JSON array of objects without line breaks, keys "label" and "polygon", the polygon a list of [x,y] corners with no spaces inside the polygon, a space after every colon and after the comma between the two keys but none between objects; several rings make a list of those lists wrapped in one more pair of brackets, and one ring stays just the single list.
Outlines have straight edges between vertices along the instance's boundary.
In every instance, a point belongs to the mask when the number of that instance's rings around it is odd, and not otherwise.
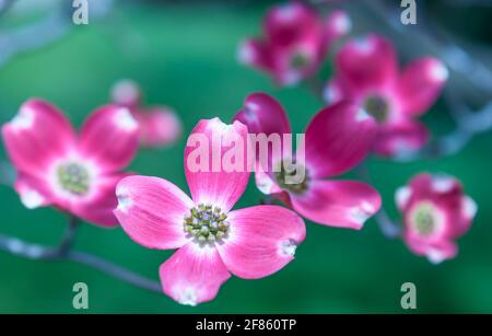
[{"label": "lower right petal of the magenta flower behind the front bloom", "polygon": [[292,206],[324,225],[360,230],[380,208],[380,196],[370,185],[353,181],[313,181],[303,195],[291,194]]}]

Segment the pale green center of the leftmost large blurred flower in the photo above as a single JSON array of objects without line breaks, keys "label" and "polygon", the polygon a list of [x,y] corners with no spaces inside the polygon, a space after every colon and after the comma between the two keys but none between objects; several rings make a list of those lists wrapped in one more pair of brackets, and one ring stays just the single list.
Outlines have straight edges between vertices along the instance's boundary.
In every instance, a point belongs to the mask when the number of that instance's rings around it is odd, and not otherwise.
[{"label": "pale green center of the leftmost large blurred flower", "polygon": [[74,162],[61,164],[57,170],[58,182],[61,187],[74,195],[83,195],[89,190],[87,170]]}]

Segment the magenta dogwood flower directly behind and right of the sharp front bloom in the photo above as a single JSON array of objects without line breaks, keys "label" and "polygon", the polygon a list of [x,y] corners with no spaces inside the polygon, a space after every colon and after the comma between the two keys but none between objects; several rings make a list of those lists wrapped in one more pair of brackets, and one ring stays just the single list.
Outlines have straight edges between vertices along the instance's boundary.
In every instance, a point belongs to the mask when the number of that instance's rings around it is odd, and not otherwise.
[{"label": "magenta dogwood flower directly behind and right of the sharp front bloom", "polygon": [[[282,106],[265,93],[249,95],[235,119],[253,134],[291,134]],[[374,123],[362,108],[348,102],[321,109],[307,126],[302,155],[297,150],[295,160],[291,160],[270,151],[271,160],[261,163],[268,166],[256,171],[258,188],[316,223],[361,229],[379,209],[379,194],[365,183],[326,177],[348,172],[367,155],[375,136]],[[286,169],[292,162],[294,167]],[[304,178],[288,183],[300,169]]]}]

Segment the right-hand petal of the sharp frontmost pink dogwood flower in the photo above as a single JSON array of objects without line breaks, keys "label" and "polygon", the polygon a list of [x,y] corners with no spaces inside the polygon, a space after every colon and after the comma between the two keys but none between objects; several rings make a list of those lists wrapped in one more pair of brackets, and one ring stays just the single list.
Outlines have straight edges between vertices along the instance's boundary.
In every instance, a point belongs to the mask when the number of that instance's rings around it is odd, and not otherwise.
[{"label": "right-hand petal of the sharp frontmost pink dogwood flower", "polygon": [[306,235],[304,221],[278,206],[234,210],[229,221],[229,236],[216,248],[227,269],[246,279],[262,278],[284,267]]}]

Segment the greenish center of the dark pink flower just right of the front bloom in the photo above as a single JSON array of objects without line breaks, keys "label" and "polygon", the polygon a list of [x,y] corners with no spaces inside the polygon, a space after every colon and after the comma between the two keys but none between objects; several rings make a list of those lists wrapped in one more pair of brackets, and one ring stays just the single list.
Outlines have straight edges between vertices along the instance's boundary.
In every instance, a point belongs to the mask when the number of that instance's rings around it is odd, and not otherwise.
[{"label": "greenish center of the dark pink flower just right of the front bloom", "polygon": [[309,176],[307,170],[298,163],[282,161],[280,171],[276,172],[274,176],[282,189],[288,189],[294,194],[302,194],[307,190]]}]

